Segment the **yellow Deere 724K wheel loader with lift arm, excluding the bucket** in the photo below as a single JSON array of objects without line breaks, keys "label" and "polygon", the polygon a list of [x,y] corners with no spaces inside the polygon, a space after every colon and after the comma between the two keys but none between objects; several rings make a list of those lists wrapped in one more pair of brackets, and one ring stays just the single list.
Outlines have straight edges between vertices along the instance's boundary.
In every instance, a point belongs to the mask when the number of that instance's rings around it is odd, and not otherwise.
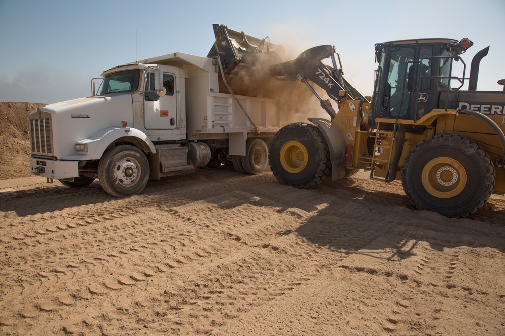
[{"label": "yellow Deere 724K wheel loader with lift arm, excluding the bucket", "polygon": [[[336,180],[366,169],[373,180],[401,180],[417,209],[448,217],[476,212],[492,193],[505,193],[505,92],[477,91],[489,47],[474,56],[465,77],[460,55],[472,45],[467,38],[376,44],[373,99],[343,78],[334,46],[272,65],[272,76],[304,83],[330,116],[276,133],[269,147],[273,174],[282,183],[311,188],[327,176]],[[326,58],[333,66],[322,63]],[[456,68],[460,76],[453,74]],[[460,90],[465,81],[468,90]]]}]

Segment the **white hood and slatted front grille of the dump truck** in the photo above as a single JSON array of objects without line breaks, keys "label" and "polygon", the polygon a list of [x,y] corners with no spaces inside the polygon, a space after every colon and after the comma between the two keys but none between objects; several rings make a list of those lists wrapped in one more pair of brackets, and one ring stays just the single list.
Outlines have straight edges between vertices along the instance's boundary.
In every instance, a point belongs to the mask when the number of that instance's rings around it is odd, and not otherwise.
[{"label": "white hood and slatted front grille of the dump truck", "polygon": [[39,107],[30,113],[33,156],[65,159],[74,155],[75,143],[100,129],[133,125],[131,94],[109,94],[68,100]]}]

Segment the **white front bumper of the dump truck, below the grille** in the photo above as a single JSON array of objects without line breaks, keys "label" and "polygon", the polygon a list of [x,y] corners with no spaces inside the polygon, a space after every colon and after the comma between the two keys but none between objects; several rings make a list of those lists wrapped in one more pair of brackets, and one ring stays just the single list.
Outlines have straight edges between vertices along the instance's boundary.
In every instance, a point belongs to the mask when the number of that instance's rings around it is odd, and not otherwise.
[{"label": "white front bumper of the dump truck, below the grille", "polygon": [[33,175],[64,179],[79,176],[79,161],[63,161],[30,158],[30,172]]}]

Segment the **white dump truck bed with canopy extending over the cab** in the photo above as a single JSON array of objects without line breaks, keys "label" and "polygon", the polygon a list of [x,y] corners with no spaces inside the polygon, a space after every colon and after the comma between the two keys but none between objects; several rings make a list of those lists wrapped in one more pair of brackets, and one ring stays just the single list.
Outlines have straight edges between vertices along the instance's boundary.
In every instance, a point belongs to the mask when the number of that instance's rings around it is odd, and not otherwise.
[{"label": "white dump truck bed with canopy extending over the cab", "polygon": [[175,52],[140,62],[184,69],[188,140],[227,138],[228,133],[276,132],[282,126],[274,99],[235,96],[251,121],[233,95],[220,92],[219,68],[212,58]]}]

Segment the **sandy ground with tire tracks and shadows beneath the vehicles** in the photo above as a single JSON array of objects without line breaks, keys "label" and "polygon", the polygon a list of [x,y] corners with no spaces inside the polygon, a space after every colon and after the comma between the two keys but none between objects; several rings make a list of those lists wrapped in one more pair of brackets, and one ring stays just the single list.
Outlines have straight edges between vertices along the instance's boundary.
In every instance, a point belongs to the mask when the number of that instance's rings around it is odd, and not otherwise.
[{"label": "sandy ground with tire tracks and shadows beneath the vehicles", "polygon": [[127,199],[0,191],[3,335],[505,334],[503,196],[448,219],[365,172],[299,190],[225,166]]}]

